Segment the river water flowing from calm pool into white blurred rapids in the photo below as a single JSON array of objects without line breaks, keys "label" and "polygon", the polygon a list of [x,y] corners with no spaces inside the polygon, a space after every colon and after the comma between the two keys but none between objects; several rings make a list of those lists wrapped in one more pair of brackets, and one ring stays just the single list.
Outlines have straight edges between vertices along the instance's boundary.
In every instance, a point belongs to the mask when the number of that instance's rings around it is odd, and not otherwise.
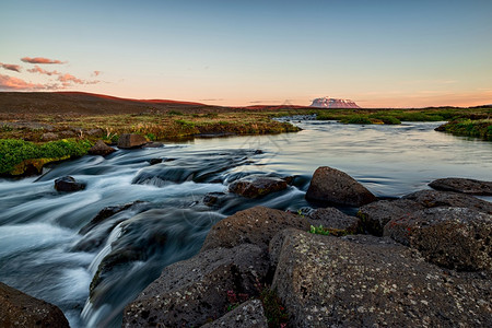
[{"label": "river water flowing from calm pool into white blurred rapids", "polygon": [[[58,305],[72,327],[116,327],[125,305],[165,266],[195,255],[219,220],[257,204],[308,207],[304,195],[318,166],[344,171],[379,197],[424,189],[435,178],[492,176],[492,143],[435,132],[438,122],[297,125],[297,133],[120,150],[58,164],[40,177],[0,180],[0,281]],[[151,166],[151,159],[163,162]],[[57,192],[54,180],[65,175],[86,189]],[[248,175],[295,179],[261,199],[225,195],[219,207],[203,204],[206,194]],[[133,201],[141,202],[86,226],[103,208]]]}]

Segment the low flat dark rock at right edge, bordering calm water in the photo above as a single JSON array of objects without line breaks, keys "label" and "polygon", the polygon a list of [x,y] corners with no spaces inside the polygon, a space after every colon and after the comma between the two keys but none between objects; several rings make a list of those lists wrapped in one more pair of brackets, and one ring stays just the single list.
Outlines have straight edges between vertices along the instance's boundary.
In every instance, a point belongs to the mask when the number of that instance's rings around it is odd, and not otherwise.
[{"label": "low flat dark rock at right edge, bordering calm water", "polygon": [[429,186],[436,190],[492,196],[492,181],[481,181],[466,178],[444,178],[436,179],[430,183]]}]

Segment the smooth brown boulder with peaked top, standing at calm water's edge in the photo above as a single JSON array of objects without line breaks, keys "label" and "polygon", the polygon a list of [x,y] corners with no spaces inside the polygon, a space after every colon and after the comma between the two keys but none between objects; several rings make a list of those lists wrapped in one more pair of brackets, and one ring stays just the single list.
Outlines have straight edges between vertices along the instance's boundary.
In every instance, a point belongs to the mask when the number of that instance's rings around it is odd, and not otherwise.
[{"label": "smooth brown boulder with peaked top, standing at calm water's edge", "polygon": [[321,166],[313,175],[306,199],[321,203],[361,207],[375,201],[376,197],[347,173]]}]

